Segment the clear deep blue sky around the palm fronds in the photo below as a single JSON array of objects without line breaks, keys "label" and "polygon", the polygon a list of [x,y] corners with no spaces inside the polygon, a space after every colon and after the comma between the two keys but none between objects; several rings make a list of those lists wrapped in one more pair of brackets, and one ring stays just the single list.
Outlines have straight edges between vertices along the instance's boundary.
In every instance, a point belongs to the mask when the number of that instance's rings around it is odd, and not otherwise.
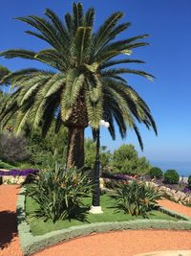
[{"label": "clear deep blue sky around the palm fronds", "polygon": [[[132,58],[146,61],[141,69],[156,76],[154,82],[136,76],[126,76],[150,106],[156,120],[159,136],[153,131],[139,127],[144,142],[145,155],[151,161],[191,162],[191,1],[190,0],[82,0],[84,8],[96,8],[96,27],[112,12],[125,13],[124,21],[132,27],[123,33],[149,34],[150,46],[135,50]],[[1,1],[0,51],[10,48],[31,50],[46,47],[37,38],[25,35],[29,27],[13,17],[28,14],[42,15],[51,8],[60,16],[72,9],[68,0],[6,0]],[[34,61],[0,58],[0,64],[11,70],[23,67],[43,67]],[[137,65],[132,65],[138,67]],[[87,130],[86,135],[91,133]],[[131,131],[122,141],[117,132],[115,142],[102,128],[101,143],[110,150],[122,143],[132,143],[139,151],[137,138]],[[139,151],[140,152],[140,151]],[[142,154],[140,152],[140,154]]]}]

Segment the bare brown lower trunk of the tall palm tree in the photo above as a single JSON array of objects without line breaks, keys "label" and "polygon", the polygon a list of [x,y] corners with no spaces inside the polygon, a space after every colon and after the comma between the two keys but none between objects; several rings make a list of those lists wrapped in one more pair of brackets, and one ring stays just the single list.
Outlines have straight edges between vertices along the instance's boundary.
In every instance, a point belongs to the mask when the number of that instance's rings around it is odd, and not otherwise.
[{"label": "bare brown lower trunk of the tall palm tree", "polygon": [[67,167],[77,169],[84,166],[84,129],[83,127],[69,127]]}]

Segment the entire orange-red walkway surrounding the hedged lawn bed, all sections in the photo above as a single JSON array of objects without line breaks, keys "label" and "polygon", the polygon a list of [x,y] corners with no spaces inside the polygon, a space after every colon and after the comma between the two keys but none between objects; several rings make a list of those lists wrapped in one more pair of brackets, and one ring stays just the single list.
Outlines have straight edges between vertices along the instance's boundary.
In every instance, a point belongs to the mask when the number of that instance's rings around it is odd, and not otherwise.
[{"label": "entire orange-red walkway surrounding the hedged lawn bed, all sections", "polygon": [[[18,192],[19,186],[16,185],[0,186],[0,256],[22,256],[16,230],[15,206]],[[189,207],[168,200],[159,203],[191,216]],[[74,239],[47,248],[35,256],[133,256],[149,251],[189,249],[191,231],[126,230]]]}]

